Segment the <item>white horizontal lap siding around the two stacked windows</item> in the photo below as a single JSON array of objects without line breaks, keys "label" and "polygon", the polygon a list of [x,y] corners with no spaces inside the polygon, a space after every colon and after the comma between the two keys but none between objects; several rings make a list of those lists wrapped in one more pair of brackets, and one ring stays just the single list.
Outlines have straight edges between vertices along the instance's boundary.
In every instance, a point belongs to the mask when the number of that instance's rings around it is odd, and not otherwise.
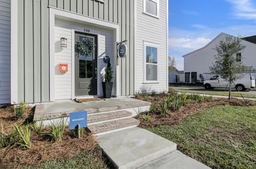
[{"label": "white horizontal lap siding around the two stacked windows", "polygon": [[[135,55],[135,91],[154,90],[157,92],[167,89],[167,2],[159,0],[159,19],[144,14],[144,0],[137,0],[136,17],[136,55]],[[158,81],[144,82],[145,51],[144,43],[158,46]]]}]

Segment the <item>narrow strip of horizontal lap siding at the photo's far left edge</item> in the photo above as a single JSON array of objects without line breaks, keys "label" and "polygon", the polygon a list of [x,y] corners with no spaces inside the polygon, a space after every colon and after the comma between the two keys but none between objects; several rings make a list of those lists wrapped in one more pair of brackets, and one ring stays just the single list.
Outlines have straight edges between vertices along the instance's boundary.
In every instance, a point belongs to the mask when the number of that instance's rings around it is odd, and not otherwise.
[{"label": "narrow strip of horizontal lap siding at the photo's far left edge", "polygon": [[0,0],[0,104],[11,102],[11,1]]}]

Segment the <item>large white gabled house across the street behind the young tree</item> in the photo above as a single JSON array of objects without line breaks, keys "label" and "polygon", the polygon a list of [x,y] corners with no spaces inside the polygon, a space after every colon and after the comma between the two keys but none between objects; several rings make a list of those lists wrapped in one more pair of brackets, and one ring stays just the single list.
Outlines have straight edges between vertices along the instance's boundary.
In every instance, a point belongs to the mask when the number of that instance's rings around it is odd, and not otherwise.
[{"label": "large white gabled house across the street behind the young tree", "polygon": [[[200,81],[199,74],[203,74],[205,80],[212,77],[209,67],[215,62],[214,56],[217,52],[214,50],[219,42],[224,40],[226,36],[231,36],[225,33],[220,33],[205,47],[202,47],[196,51],[190,52],[184,55],[184,74],[185,83],[196,83]],[[237,57],[244,57],[242,62],[249,66],[250,69],[246,70],[246,73],[255,72],[256,69],[256,44],[255,37],[247,37],[242,39],[242,45],[246,48],[241,54],[237,54]]]}]

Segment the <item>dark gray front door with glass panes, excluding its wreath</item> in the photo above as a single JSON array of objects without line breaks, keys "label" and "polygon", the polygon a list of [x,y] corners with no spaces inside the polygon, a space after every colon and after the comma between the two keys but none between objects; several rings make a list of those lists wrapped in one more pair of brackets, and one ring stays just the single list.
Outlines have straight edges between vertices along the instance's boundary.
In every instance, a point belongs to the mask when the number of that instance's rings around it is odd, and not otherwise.
[{"label": "dark gray front door with glass panes, excluding its wreath", "polygon": [[76,42],[83,41],[86,37],[96,47],[90,55],[75,55],[75,96],[97,95],[97,36],[75,33]]}]

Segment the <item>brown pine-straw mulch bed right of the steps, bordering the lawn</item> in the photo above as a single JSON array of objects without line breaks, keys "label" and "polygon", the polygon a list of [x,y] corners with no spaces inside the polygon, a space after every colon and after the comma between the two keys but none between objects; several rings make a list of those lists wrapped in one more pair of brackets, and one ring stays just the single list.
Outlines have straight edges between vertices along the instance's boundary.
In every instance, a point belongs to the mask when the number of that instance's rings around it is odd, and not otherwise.
[{"label": "brown pine-straw mulch bed right of the steps, bordering the lawn", "polygon": [[155,127],[160,126],[164,124],[179,124],[181,121],[183,121],[186,117],[189,115],[193,115],[199,112],[199,110],[204,110],[207,108],[211,108],[212,106],[216,105],[232,105],[232,106],[255,106],[255,101],[246,100],[246,103],[244,100],[239,99],[213,99],[209,103],[194,103],[194,104],[186,104],[183,106],[180,110],[173,112],[172,110],[169,110],[167,117],[160,117],[159,111],[160,111],[160,104],[163,101],[163,94],[162,95],[155,95],[155,96],[138,96],[136,99],[145,100],[145,101],[151,101],[152,104],[158,105],[158,113],[150,114],[151,115],[151,121],[145,121],[144,118],[141,116],[137,116],[137,119],[140,119],[140,127],[146,128],[146,127]]}]

